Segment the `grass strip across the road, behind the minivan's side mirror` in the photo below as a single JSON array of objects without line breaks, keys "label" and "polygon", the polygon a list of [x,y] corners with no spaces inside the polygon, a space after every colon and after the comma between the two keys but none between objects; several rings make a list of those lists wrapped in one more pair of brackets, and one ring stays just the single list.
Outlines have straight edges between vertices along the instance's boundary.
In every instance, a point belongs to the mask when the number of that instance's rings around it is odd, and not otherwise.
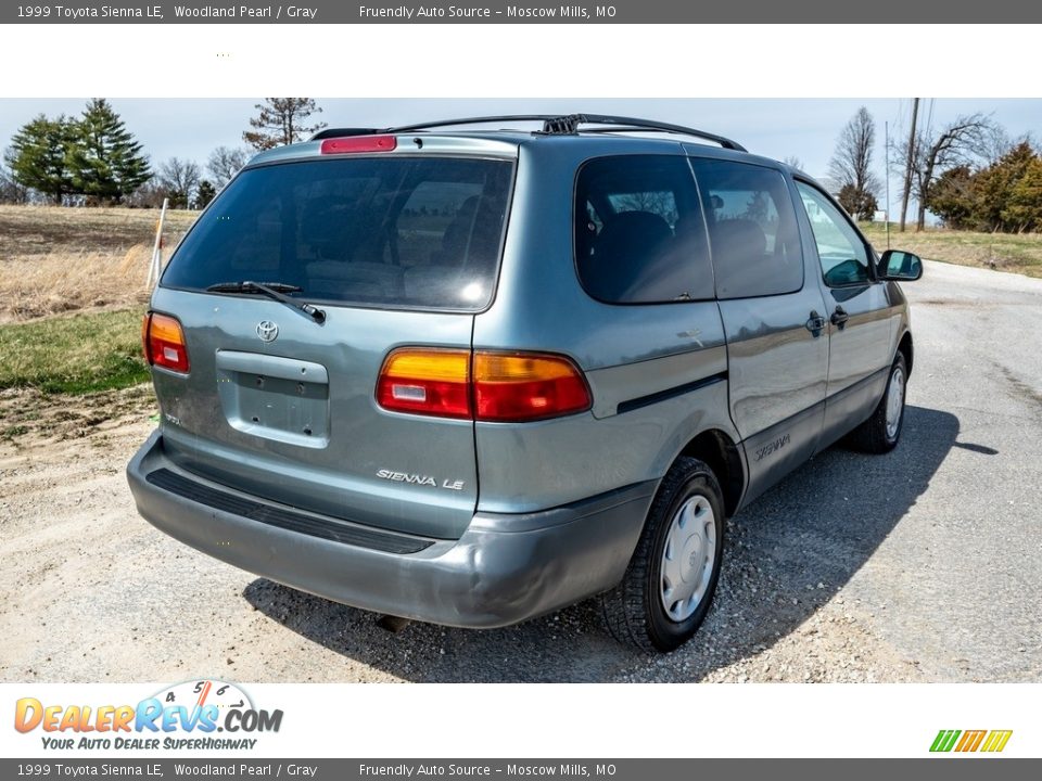
[{"label": "grass strip across the road, behind the minivan's side mirror", "polygon": [[[863,222],[861,229],[878,252],[887,248],[884,223]],[[897,226],[891,225],[890,246],[907,249],[928,260],[1042,277],[1042,233],[975,233],[944,229],[899,233]]]}]

